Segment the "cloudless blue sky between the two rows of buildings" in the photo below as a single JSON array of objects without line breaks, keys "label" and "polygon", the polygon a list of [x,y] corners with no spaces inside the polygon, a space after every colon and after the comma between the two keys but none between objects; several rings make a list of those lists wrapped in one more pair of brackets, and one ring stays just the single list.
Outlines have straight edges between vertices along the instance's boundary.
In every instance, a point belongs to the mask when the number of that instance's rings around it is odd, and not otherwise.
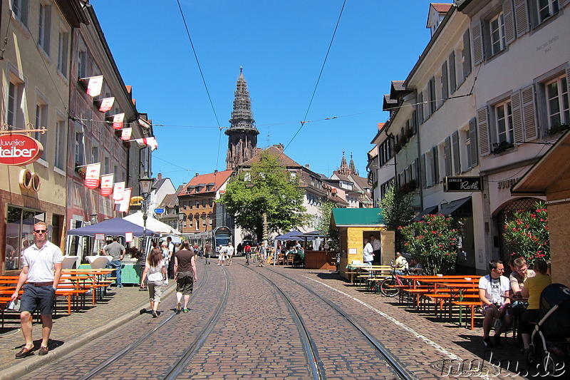
[{"label": "cloudless blue sky between the two rows of buildings", "polygon": [[[366,177],[370,142],[388,118],[383,94],[430,38],[430,1],[347,0],[304,119],[343,0],[180,0],[214,113],[176,0],[90,4],[138,110],[155,125],[153,175],[175,186],[225,169],[219,127],[229,127],[240,66],[259,147],[288,145],[289,157],[329,177],[345,150]],[[311,121],[294,138],[301,120]]]}]

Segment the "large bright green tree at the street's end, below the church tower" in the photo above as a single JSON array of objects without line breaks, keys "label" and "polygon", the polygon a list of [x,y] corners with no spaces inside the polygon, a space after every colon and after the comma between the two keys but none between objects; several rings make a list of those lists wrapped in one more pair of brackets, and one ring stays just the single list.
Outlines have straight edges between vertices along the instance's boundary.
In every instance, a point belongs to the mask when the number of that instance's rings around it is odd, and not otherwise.
[{"label": "large bright green tree at the street's end, below the church tower", "polygon": [[263,240],[264,215],[269,232],[289,231],[306,225],[304,191],[279,163],[276,155],[262,150],[249,171],[231,180],[226,192],[217,200],[234,215],[234,222]]}]

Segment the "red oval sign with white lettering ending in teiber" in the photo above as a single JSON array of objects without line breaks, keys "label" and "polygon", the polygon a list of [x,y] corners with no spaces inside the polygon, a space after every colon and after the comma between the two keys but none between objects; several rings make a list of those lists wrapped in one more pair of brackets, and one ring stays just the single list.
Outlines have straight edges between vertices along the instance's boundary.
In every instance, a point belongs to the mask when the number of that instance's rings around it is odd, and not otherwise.
[{"label": "red oval sign with white lettering ending in teiber", "polygon": [[17,133],[0,135],[0,164],[26,165],[41,157],[43,145],[29,136]]}]

